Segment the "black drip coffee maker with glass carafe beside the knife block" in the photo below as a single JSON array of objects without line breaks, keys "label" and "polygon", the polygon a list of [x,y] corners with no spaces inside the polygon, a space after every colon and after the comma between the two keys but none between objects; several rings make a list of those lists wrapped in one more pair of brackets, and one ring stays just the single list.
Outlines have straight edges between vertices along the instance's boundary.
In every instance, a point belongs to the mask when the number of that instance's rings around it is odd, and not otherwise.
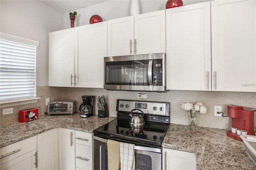
[{"label": "black drip coffee maker with glass carafe beside the knife block", "polygon": [[90,117],[93,115],[94,96],[82,96],[82,103],[79,107],[80,117]]}]

